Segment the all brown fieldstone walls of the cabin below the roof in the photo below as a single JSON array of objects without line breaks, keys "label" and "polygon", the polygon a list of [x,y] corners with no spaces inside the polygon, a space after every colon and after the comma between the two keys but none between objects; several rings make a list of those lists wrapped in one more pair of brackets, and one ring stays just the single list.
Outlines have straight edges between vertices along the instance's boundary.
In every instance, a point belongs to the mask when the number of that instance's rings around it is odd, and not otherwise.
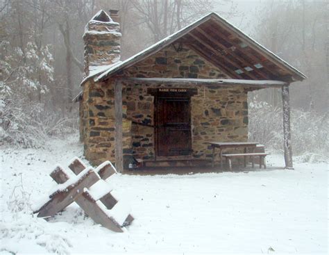
[{"label": "all brown fieldstone walls of the cabin below the roof", "polygon": [[[169,46],[154,56],[124,70],[124,76],[229,79],[220,69],[183,45]],[[85,157],[99,164],[115,162],[115,79],[84,85],[83,133]],[[196,88],[191,97],[192,157],[210,158],[210,141],[246,141],[248,138],[247,92],[241,87],[123,84],[124,166],[131,156],[155,158],[154,97],[148,88]]]}]

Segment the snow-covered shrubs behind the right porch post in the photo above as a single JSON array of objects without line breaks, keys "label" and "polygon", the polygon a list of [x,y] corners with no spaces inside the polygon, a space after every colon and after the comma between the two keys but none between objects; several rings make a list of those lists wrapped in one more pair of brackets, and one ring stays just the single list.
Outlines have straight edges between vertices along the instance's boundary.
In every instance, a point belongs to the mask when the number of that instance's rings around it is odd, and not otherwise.
[{"label": "snow-covered shrubs behind the right porch post", "polygon": [[[329,117],[315,112],[292,109],[292,147],[294,155],[305,153],[328,156]],[[249,140],[267,148],[283,150],[282,108],[266,102],[249,104]]]}]

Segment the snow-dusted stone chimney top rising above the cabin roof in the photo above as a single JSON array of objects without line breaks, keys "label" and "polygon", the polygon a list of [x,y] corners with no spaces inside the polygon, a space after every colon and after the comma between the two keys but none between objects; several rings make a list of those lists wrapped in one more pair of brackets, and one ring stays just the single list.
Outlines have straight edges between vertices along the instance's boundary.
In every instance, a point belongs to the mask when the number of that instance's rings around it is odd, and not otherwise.
[{"label": "snow-dusted stone chimney top rising above the cabin roof", "polygon": [[[117,15],[117,13],[116,13]],[[118,16],[118,15],[117,15]],[[100,10],[85,26],[84,78],[106,65],[120,60],[120,25]]]}]

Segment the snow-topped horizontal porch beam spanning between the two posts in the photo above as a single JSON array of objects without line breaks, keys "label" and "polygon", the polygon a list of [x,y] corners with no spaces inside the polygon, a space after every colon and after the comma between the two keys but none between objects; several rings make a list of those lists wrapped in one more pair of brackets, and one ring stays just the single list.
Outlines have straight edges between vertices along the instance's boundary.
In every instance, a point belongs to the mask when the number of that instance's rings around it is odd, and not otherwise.
[{"label": "snow-topped horizontal porch beam spanning between the two posts", "polygon": [[185,78],[127,78],[125,82],[135,83],[161,83],[180,85],[218,85],[218,86],[244,86],[246,88],[282,88],[289,85],[283,81],[271,80],[240,80],[240,79],[185,79]]}]

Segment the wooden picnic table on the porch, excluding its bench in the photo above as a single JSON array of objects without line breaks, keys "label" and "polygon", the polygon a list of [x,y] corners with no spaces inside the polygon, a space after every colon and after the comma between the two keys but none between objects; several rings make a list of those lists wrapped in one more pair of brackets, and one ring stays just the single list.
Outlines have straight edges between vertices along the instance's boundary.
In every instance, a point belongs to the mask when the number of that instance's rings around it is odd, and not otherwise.
[{"label": "wooden picnic table on the porch, excluding its bench", "polygon": [[[244,148],[244,154],[247,153],[247,148],[251,149],[251,152],[254,153],[258,145],[258,142],[210,142],[212,147],[212,167],[214,167],[214,152],[215,149],[219,149],[219,156],[221,158],[221,169],[223,169],[223,149],[238,149]],[[246,155],[248,156],[248,155]],[[244,156],[244,165],[246,165],[246,156]],[[253,161],[253,157],[252,157]]]}]

